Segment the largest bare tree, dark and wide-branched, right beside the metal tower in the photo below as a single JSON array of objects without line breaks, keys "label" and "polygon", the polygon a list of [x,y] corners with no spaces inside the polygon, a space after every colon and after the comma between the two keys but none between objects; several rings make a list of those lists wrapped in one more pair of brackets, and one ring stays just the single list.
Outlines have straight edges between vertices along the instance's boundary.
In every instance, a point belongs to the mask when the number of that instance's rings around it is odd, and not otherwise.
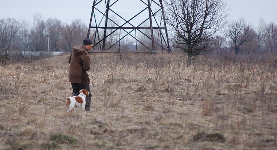
[{"label": "largest bare tree, dark and wide-branched, right beside the metal tower", "polygon": [[[166,21],[170,25],[173,46],[191,57],[197,56],[208,45],[211,36],[223,28],[228,13],[225,0],[169,0],[166,2]],[[209,43],[209,42],[207,42]]]}]

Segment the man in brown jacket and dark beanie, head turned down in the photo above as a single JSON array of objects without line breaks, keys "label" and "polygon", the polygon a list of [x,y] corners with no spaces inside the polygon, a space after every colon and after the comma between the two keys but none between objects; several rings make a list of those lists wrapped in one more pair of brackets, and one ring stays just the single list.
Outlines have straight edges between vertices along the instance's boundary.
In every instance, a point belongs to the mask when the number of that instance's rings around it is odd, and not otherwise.
[{"label": "man in brown jacket and dark beanie, head turned down", "polygon": [[[72,96],[78,96],[81,89],[86,89],[90,93],[90,79],[86,71],[90,70],[89,50],[92,48],[92,41],[89,38],[83,39],[82,45],[73,47],[68,63],[69,82],[71,82]],[[86,96],[86,111],[90,110],[91,93]]]}]

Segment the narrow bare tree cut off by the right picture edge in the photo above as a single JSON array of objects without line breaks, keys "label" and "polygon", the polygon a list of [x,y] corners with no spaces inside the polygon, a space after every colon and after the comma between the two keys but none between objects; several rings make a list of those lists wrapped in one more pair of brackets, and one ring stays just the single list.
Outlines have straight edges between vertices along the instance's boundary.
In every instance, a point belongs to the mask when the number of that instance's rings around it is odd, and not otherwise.
[{"label": "narrow bare tree cut off by the right picture edge", "polygon": [[275,53],[277,49],[277,25],[271,22],[265,29],[265,42],[269,53]]}]

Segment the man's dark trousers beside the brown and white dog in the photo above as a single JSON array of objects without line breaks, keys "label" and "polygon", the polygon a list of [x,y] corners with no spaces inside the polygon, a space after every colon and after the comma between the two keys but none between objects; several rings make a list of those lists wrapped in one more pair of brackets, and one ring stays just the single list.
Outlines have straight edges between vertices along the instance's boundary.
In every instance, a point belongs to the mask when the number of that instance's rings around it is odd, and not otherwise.
[{"label": "man's dark trousers beside the brown and white dog", "polygon": [[[73,88],[72,96],[78,96],[79,91],[81,89],[86,89],[90,93],[90,85],[89,84],[79,84],[79,83],[71,83]],[[91,93],[86,96],[86,110],[90,110],[90,100],[91,100]]]}]

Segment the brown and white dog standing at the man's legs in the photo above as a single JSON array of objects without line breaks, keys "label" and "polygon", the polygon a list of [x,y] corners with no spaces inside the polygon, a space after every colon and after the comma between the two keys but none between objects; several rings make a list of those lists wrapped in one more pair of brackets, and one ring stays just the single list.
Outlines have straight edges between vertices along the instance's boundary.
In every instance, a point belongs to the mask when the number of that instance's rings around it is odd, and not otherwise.
[{"label": "brown and white dog standing at the man's legs", "polygon": [[82,110],[86,112],[86,96],[89,94],[89,92],[86,89],[81,89],[79,93],[80,94],[78,96],[68,97],[66,99],[66,105],[68,107],[67,112],[72,110],[75,105],[77,107],[82,106]]}]

